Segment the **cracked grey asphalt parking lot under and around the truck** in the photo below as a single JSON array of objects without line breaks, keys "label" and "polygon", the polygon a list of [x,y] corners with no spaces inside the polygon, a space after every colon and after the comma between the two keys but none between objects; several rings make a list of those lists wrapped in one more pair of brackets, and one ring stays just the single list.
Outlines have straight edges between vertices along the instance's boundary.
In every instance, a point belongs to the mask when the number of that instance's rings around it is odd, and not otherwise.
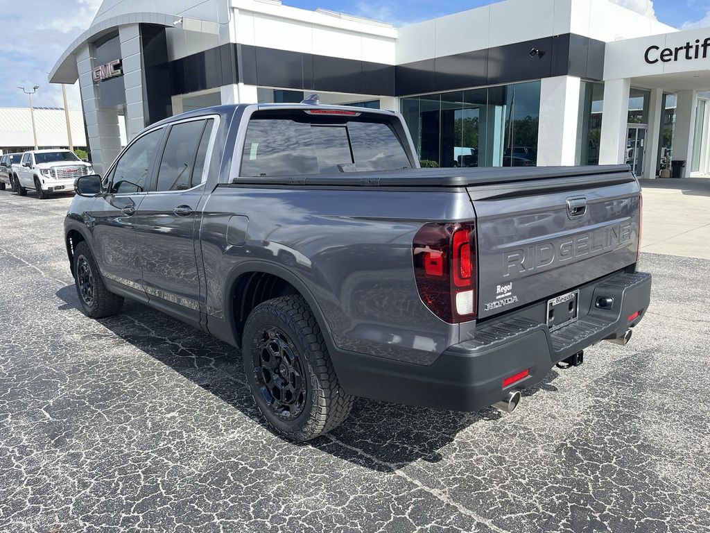
[{"label": "cracked grey asphalt parking lot under and around the truck", "polygon": [[710,531],[709,261],[644,254],[630,345],[515,414],[359,400],[296,446],[236,350],[137,303],[82,315],[69,203],[0,192],[1,532]]}]

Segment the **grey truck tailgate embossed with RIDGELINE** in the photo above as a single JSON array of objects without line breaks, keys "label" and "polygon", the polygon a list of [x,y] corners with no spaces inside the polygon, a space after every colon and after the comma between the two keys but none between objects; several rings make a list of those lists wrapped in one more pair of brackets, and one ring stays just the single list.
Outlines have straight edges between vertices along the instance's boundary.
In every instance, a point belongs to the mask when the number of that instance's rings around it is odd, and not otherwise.
[{"label": "grey truck tailgate embossed with RIDGELINE", "polygon": [[547,300],[636,262],[630,172],[467,188],[476,210],[479,318]]}]

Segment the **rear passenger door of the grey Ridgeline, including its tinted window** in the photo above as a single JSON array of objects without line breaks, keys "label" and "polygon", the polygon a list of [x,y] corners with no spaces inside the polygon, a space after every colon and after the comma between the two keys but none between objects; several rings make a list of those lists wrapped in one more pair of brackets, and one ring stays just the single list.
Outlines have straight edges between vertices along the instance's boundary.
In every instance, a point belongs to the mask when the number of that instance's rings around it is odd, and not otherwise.
[{"label": "rear passenger door of the grey Ridgeline, including its tinted window", "polygon": [[193,323],[200,321],[195,222],[216,121],[202,117],[170,126],[155,178],[133,219],[151,303]]}]

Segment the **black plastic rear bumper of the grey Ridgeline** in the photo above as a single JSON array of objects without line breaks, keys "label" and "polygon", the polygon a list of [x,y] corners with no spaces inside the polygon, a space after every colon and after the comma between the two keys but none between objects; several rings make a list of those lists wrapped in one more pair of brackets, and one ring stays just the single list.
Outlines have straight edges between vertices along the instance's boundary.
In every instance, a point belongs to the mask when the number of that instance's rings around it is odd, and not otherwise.
[{"label": "black plastic rear bumper of the grey Ridgeline", "polygon": [[[589,312],[550,333],[545,323],[512,316],[481,325],[476,338],[445,350],[432,365],[338,352],[334,366],[349,394],[398,404],[477,411],[498,402],[510,390],[540,382],[555,363],[605,339],[621,338],[643,318],[650,302],[650,274],[616,274],[592,284]],[[613,298],[611,309],[596,308]],[[632,321],[628,319],[638,313]],[[503,379],[528,370],[530,375],[503,388]]]}]

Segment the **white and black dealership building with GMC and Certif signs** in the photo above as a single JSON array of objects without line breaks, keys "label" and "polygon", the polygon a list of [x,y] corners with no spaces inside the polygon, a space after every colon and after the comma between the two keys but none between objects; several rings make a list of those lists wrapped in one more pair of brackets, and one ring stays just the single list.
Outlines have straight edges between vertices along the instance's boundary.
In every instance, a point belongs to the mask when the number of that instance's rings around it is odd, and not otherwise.
[{"label": "white and black dealership building with GMC and Certif signs", "polygon": [[278,0],[105,0],[50,73],[77,80],[99,171],[173,114],[318,92],[402,112],[427,164],[710,174],[710,28],[610,0],[506,0],[400,28]]}]

